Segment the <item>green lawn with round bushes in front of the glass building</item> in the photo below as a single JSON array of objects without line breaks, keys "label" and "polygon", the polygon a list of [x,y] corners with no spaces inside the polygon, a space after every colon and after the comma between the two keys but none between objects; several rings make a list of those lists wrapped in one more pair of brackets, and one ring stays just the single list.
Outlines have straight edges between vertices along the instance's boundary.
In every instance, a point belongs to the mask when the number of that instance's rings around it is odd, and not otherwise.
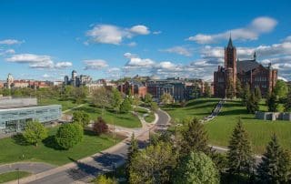
[{"label": "green lawn with round bushes in front of the glass building", "polygon": [[[105,148],[112,147],[114,144],[111,136],[102,135],[97,137],[92,132],[85,131],[85,137],[82,142],[69,150],[60,150],[55,146],[54,135],[56,130],[57,128],[50,128],[49,137],[39,144],[37,148],[26,145],[20,136],[0,139],[0,164],[25,160],[63,165],[73,160],[93,155]],[[119,141],[120,139],[117,139],[115,142]],[[22,158],[23,155],[25,156],[24,158]]]}]

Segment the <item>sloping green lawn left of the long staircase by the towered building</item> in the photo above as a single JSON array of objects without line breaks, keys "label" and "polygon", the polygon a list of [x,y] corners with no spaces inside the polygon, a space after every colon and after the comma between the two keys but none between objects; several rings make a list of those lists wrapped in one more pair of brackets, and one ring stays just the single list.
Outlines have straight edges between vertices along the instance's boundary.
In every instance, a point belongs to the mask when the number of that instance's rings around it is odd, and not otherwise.
[{"label": "sloping green lawn left of the long staircase by the towered building", "polygon": [[164,110],[173,119],[183,120],[186,118],[204,118],[211,114],[211,111],[216,107],[218,98],[199,98],[190,100],[186,103],[186,107],[180,107],[180,105],[171,105],[169,107],[163,107]]}]

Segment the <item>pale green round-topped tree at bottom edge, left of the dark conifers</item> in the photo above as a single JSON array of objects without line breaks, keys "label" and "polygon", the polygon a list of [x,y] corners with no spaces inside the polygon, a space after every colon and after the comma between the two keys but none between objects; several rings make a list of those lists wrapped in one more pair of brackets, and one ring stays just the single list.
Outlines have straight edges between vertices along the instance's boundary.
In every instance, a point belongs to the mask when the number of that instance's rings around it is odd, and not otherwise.
[{"label": "pale green round-topped tree at bottom edge, left of the dark conifers", "polygon": [[219,172],[214,162],[203,152],[191,152],[182,158],[176,169],[174,183],[219,183]]}]

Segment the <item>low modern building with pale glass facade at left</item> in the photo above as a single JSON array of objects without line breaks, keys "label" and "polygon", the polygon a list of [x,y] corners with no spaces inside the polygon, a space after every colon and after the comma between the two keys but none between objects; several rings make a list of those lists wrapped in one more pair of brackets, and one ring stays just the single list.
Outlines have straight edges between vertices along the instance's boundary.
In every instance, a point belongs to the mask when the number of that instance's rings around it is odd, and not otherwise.
[{"label": "low modern building with pale glass facade at left", "polygon": [[61,116],[60,105],[0,109],[0,133],[24,130],[27,121],[38,120],[45,123],[60,119]]}]

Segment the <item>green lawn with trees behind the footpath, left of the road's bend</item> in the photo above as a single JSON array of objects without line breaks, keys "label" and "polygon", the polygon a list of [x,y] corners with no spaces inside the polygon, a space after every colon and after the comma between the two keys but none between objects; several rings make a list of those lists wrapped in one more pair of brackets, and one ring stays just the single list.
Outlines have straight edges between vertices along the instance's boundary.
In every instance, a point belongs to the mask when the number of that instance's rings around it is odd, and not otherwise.
[{"label": "green lawn with trees behind the footpath, left of the road's bend", "polygon": [[[67,114],[72,114],[75,110],[83,110],[89,114],[90,118],[95,120],[102,116],[102,108],[93,107],[89,104],[85,104],[83,107],[75,108],[72,111],[67,112]],[[109,124],[115,123],[116,126],[121,126],[125,128],[140,128],[142,127],[139,119],[135,117],[132,113],[120,113],[117,114],[115,111],[104,110],[103,118]]]}]

